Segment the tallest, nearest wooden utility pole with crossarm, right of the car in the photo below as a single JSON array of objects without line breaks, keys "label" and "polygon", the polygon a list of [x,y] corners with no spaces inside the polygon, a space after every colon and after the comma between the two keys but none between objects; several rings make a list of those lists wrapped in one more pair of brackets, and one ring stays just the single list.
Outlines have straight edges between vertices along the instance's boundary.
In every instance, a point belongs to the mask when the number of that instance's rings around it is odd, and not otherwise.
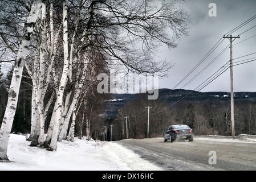
[{"label": "tallest, nearest wooden utility pole with crossarm, right of the car", "polygon": [[237,39],[240,38],[239,35],[238,36],[223,36],[223,38],[225,39],[229,39],[230,42],[230,87],[231,87],[231,91],[230,91],[230,102],[231,102],[231,130],[232,130],[232,137],[235,137],[235,119],[234,119],[234,84],[233,84],[233,49],[232,49],[232,42],[234,41],[233,39]]}]

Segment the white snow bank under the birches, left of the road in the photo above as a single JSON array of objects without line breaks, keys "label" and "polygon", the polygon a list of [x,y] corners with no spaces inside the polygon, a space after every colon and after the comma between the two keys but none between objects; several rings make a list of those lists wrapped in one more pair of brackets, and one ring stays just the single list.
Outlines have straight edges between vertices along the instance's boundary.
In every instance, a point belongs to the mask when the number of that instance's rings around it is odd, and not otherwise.
[{"label": "white snow bank under the birches, left of the road", "polygon": [[58,142],[57,151],[29,147],[23,135],[10,135],[7,155],[11,162],[0,163],[6,170],[84,170],[136,171],[161,170],[139,155],[113,142],[95,142],[75,138]]}]

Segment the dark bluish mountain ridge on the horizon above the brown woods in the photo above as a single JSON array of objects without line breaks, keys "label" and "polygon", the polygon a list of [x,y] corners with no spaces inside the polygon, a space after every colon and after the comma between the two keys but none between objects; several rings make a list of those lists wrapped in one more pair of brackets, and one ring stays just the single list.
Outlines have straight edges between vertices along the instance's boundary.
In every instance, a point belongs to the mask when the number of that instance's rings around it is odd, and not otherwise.
[{"label": "dark bluish mountain ridge on the horizon above the brown woods", "polygon": [[[148,93],[137,94],[111,94],[111,99],[105,101],[104,110],[108,118],[115,117],[117,110],[124,107],[125,104],[132,101],[147,99]],[[167,105],[184,100],[192,103],[220,100],[229,101],[230,92],[197,92],[185,89],[159,89],[157,100],[165,101]],[[256,102],[256,92],[234,92],[234,101],[251,101]]]}]

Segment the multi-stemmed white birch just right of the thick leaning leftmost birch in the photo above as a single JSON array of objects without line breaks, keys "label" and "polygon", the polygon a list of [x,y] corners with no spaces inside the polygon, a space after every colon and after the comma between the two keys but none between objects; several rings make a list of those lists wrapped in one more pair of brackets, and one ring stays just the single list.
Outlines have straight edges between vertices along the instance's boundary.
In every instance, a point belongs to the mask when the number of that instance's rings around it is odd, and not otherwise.
[{"label": "multi-stemmed white birch just right of the thick leaning leftmost birch", "polygon": [[[36,116],[32,115],[31,119],[31,125],[35,127],[31,127],[31,135],[34,136],[34,128],[38,129],[38,125],[40,126],[40,132],[37,130],[36,133],[39,133],[40,136],[37,138],[30,137],[31,140],[31,146],[42,146],[44,144],[44,122],[46,121],[46,116],[48,113],[48,109],[52,102],[54,101],[54,97],[56,92],[52,92],[50,95],[50,99],[48,100],[47,104],[44,105],[44,100],[46,96],[46,92],[48,89],[48,86],[50,84],[50,79],[51,79],[51,73],[52,73],[52,67],[55,61],[55,55],[58,47],[58,38],[61,30],[61,25],[58,26],[56,29],[56,32],[54,31],[54,16],[53,16],[53,2],[50,2],[50,44],[48,45],[47,49],[47,30],[46,30],[46,12],[42,12],[42,20],[40,22],[40,28],[39,28],[39,33],[40,33],[40,47],[39,47],[39,60],[34,60],[34,67],[30,71],[30,76],[33,82],[33,90],[34,90],[34,103],[32,105],[36,105],[36,110],[32,110],[32,114],[37,114]],[[50,49],[50,55],[46,57],[46,50]],[[48,60],[47,60],[48,58]],[[48,65],[47,65],[48,64]],[[47,65],[47,68],[46,68]],[[28,68],[26,64],[26,68]],[[37,72],[37,68],[39,68],[39,72]],[[39,113],[38,113],[39,111]],[[35,120],[35,119],[38,120]],[[39,123],[37,121],[40,121]],[[38,134],[38,135],[39,135]]]}]

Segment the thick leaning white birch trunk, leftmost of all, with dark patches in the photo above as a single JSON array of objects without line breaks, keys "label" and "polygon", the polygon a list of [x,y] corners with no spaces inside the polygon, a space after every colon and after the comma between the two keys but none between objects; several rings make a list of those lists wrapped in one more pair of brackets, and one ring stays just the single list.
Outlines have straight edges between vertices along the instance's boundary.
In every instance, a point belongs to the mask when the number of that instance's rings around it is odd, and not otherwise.
[{"label": "thick leaning white birch trunk, leftmost of all, with dark patches", "polygon": [[25,27],[23,30],[21,44],[19,46],[19,51],[15,61],[13,77],[11,78],[11,85],[9,89],[9,96],[8,96],[6,110],[5,110],[5,115],[3,117],[3,122],[0,130],[0,160],[9,160],[7,158],[7,147],[9,143],[11,127],[13,126],[15,111],[17,108],[23,67],[25,64],[27,48],[29,46],[31,34],[34,30],[34,26],[36,23],[36,19],[38,18],[41,5],[42,5],[42,1],[40,0],[35,1],[33,3],[30,14],[27,17],[27,21],[25,23]]}]

